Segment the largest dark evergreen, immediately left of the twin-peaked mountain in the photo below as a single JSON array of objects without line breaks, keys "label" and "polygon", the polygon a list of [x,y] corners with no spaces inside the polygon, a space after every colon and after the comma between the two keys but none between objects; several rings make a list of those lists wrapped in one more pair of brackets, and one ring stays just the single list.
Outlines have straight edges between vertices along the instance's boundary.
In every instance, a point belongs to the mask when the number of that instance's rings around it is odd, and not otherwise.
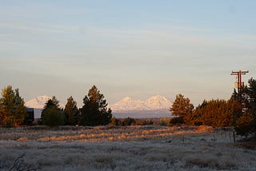
[{"label": "largest dark evergreen, immediately left of the twin-peaked mountain", "polygon": [[95,85],[83,98],[83,104],[79,118],[81,125],[107,125],[110,123],[111,109],[107,109],[106,100]]}]

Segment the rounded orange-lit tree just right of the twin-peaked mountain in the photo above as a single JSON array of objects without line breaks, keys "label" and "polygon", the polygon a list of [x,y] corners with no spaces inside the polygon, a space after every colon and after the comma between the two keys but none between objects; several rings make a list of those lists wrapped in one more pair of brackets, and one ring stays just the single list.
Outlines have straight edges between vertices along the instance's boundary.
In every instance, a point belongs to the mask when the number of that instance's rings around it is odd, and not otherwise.
[{"label": "rounded orange-lit tree just right of the twin-peaked mountain", "polygon": [[170,112],[173,116],[180,117],[181,122],[189,124],[193,109],[194,105],[190,104],[190,99],[179,93],[170,107]]}]

